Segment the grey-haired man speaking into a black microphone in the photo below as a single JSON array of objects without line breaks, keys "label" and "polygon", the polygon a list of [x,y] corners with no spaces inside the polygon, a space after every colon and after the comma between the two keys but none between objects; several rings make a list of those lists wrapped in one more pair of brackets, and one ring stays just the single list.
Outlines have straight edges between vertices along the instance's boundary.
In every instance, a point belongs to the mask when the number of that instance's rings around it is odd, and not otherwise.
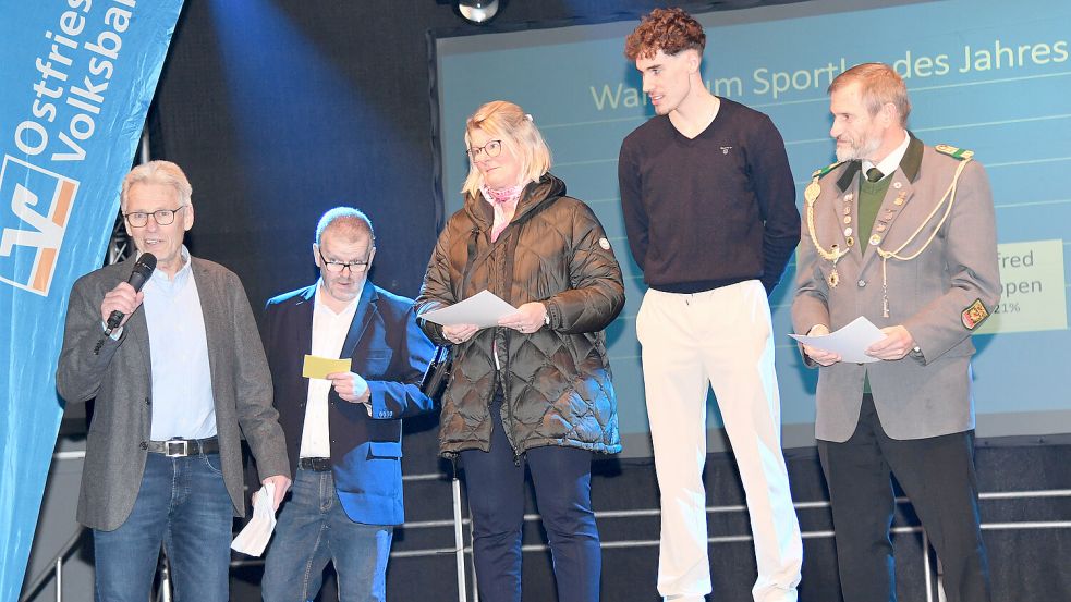
[{"label": "grey-haired man speaking into a black microphone", "polygon": [[138,257],[71,291],[56,382],[69,403],[96,398],[77,514],[93,529],[96,600],[147,600],[161,544],[175,600],[228,600],[242,435],[276,506],[290,487],[242,283],[182,244],[191,195],[174,163],[134,168],[121,202]]}]

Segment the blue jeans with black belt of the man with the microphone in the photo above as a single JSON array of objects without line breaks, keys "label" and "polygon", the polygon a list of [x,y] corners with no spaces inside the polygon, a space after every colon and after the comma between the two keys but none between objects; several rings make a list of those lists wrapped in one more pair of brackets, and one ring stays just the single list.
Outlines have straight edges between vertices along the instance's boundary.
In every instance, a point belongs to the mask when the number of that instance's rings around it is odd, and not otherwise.
[{"label": "blue jeans with black belt of the man with the microphone", "polygon": [[175,602],[226,602],[233,520],[219,454],[149,454],[126,521],[93,531],[96,600],[148,600],[163,542]]}]

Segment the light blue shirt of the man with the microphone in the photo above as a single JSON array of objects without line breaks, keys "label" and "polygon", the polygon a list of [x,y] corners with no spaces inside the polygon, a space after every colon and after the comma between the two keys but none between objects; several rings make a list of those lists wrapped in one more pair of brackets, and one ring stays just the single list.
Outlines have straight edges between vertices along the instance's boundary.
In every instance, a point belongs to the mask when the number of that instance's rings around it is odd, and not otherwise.
[{"label": "light blue shirt of the man with the microphone", "polygon": [[156,270],[142,288],[153,366],[153,441],[216,434],[205,316],[185,245],[182,259],[173,279]]}]

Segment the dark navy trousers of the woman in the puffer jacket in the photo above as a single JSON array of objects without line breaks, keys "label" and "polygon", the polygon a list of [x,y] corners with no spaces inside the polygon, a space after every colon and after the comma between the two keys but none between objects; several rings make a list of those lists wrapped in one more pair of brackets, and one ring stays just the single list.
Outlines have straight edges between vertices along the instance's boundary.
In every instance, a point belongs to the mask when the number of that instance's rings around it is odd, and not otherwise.
[{"label": "dark navy trousers of the woman in the puffer jacket", "polygon": [[520,466],[502,429],[500,400],[490,452],[461,453],[473,518],[473,562],[482,602],[520,602],[524,467],[535,484],[559,602],[598,602],[603,556],[592,511],[592,453],[573,447],[528,450]]}]

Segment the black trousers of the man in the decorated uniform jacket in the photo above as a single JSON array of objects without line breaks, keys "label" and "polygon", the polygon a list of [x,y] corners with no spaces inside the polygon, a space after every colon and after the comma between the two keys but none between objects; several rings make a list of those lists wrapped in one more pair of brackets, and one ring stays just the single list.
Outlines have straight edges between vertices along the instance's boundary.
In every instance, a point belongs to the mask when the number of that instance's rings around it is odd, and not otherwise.
[{"label": "black trousers of the man in the decorated uniform jacket", "polygon": [[843,443],[818,441],[829,486],[844,602],[894,602],[889,529],[896,511],[890,474],[903,488],[945,569],[949,602],[988,602],[974,432],[890,439],[874,400],[863,395],[859,426]]}]

